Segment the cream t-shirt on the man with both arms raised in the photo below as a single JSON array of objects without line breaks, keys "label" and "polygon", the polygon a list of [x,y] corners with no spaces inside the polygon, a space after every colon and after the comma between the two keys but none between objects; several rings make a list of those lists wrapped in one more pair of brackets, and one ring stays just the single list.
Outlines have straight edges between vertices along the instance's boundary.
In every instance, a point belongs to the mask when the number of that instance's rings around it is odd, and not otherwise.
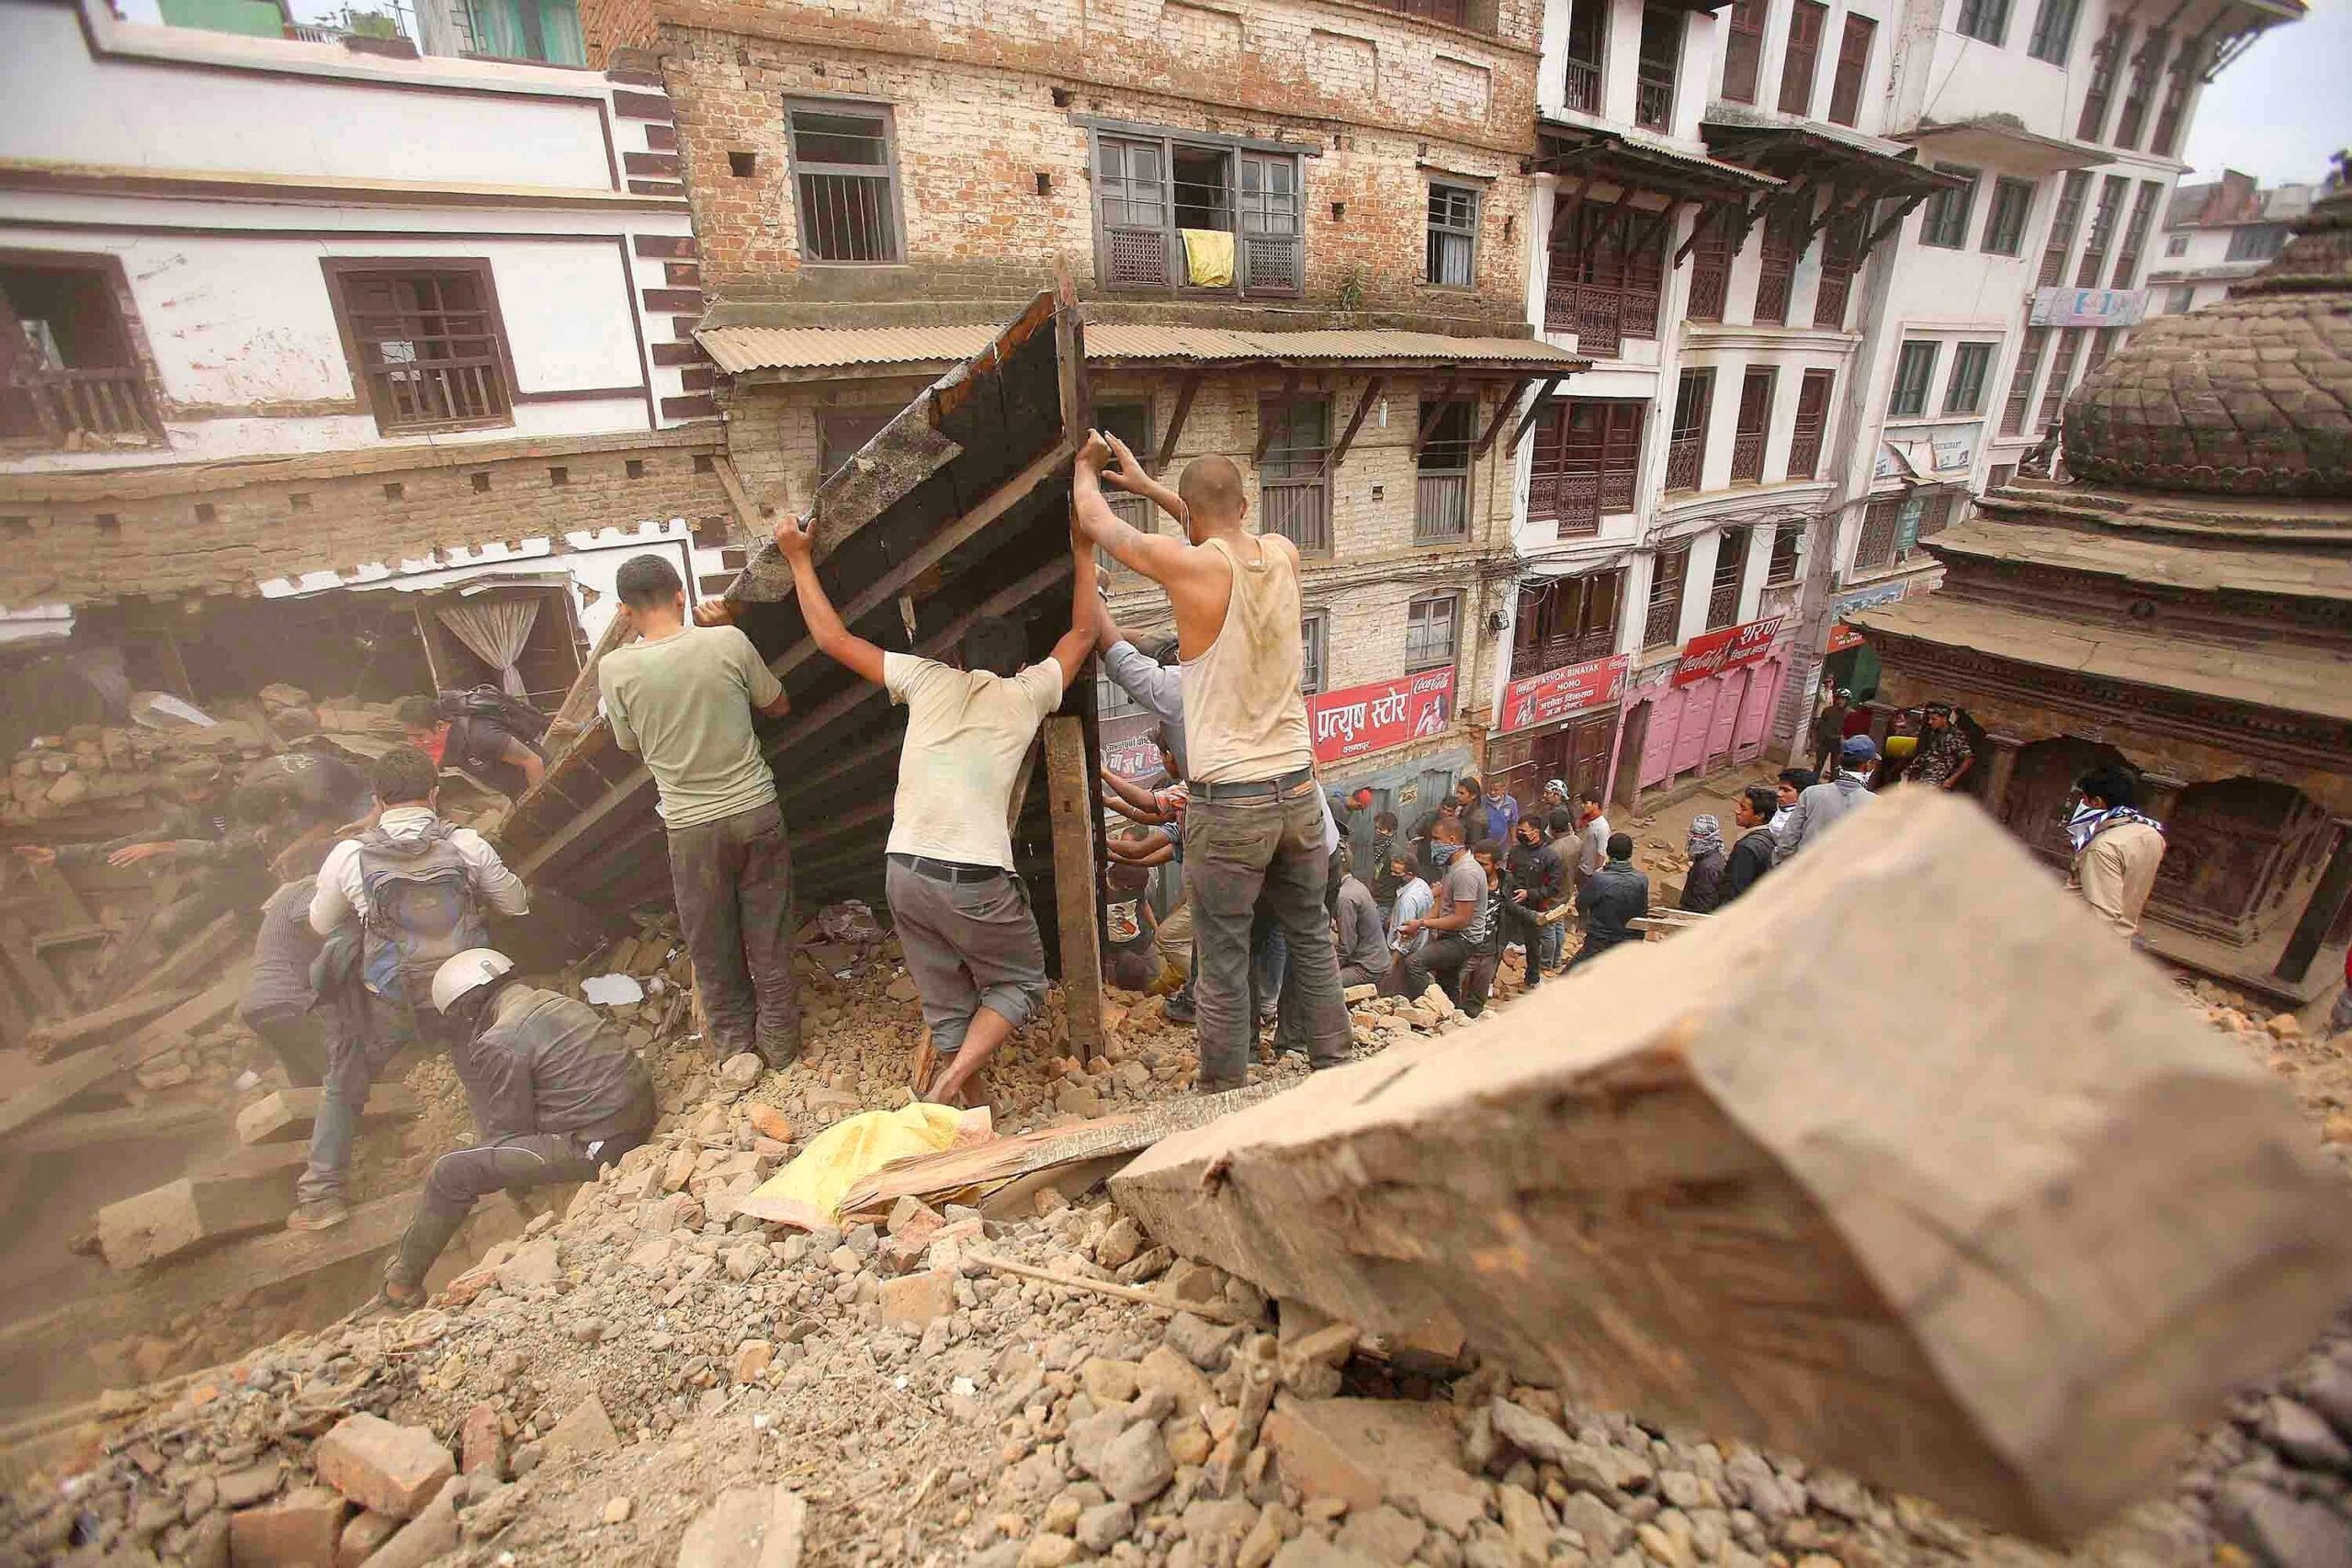
[{"label": "cream t-shirt on the man with both arms raised", "polygon": [[1011,870],[1004,809],[1037,726],[1061,708],[1061,665],[1004,677],[884,654],[882,686],[906,703],[889,853]]}]

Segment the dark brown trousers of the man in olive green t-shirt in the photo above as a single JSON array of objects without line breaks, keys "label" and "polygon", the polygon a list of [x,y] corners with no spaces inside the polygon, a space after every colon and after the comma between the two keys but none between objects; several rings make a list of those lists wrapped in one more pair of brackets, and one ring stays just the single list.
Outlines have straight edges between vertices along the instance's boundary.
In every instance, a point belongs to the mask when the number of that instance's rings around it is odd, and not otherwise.
[{"label": "dark brown trousers of the man in olive green t-shirt", "polygon": [[673,827],[670,889],[717,1056],[757,1051],[769,1067],[800,1056],[793,853],[776,802]]}]

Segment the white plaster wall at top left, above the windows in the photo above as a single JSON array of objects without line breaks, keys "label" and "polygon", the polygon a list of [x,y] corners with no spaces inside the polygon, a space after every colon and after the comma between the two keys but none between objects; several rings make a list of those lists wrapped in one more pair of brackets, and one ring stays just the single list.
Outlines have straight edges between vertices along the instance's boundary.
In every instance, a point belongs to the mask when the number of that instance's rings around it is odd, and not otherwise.
[{"label": "white plaster wall at top left, above the windows", "polygon": [[[115,24],[122,40],[247,68],[92,59],[73,9],[0,0],[0,158],[310,179],[612,190],[604,82],[522,66],[459,71],[503,92],[390,92],[468,61]],[[268,63],[273,71],[254,71]],[[327,75],[325,71],[334,71]],[[280,71],[320,71],[282,75]],[[562,92],[562,99],[520,92]]]}]

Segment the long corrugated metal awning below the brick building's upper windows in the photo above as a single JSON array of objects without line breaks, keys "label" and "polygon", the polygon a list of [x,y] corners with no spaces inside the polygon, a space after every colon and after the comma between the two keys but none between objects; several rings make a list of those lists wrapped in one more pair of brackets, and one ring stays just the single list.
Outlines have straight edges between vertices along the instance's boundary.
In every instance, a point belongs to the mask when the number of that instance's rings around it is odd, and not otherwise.
[{"label": "long corrugated metal awning below the brick building's upper windows", "polygon": [[[988,348],[995,327],[706,327],[694,334],[727,374],[950,364]],[[1087,327],[1091,364],[1491,364],[1569,374],[1581,360],[1541,339],[1449,339],[1437,331],[1232,331],[1225,327]]]}]

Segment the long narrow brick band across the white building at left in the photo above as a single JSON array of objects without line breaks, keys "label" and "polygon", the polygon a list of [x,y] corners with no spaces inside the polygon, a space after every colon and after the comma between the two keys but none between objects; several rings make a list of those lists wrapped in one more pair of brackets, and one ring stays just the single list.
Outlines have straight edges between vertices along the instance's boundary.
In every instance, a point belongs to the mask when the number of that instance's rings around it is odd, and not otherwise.
[{"label": "long narrow brick band across the white building at left", "polygon": [[717,425],[153,473],[0,477],[9,604],[252,592],[259,581],[489,541],[727,517]]}]

